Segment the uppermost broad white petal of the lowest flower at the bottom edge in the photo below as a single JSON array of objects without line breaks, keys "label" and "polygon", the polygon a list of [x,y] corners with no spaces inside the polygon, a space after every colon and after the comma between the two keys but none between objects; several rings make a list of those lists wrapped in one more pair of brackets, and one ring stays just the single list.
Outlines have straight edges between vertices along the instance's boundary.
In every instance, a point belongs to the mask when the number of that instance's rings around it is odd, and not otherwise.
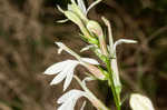
[{"label": "uppermost broad white petal of the lowest flower at the bottom edge", "polygon": [[65,93],[62,97],[60,97],[57,102],[58,103],[63,103],[68,100],[78,99],[78,98],[80,98],[81,96],[85,96],[85,94],[86,94],[86,92],[84,92],[81,90],[73,89],[73,90],[70,90],[67,93]]}]

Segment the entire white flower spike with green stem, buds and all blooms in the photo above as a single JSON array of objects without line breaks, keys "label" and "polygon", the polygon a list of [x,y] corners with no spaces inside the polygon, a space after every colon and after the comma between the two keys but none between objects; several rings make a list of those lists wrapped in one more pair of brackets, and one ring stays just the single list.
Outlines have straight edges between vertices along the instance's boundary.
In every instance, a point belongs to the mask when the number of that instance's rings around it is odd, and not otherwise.
[{"label": "entire white flower spike with green stem, buds and all blooms", "polygon": [[[67,10],[62,10],[58,6],[58,9],[67,17],[66,20],[61,20],[59,22],[70,20],[76,23],[81,31],[80,37],[85,39],[87,43],[89,43],[86,48],[81,49],[81,52],[90,49],[106,64],[106,69],[101,68],[97,60],[91,58],[82,58],[62,42],[56,42],[56,44],[59,47],[58,53],[61,53],[61,51],[65,50],[73,56],[76,60],[65,60],[50,66],[45,71],[45,74],[57,74],[50,84],[58,84],[65,79],[65,91],[69,87],[72,78],[75,78],[84,89],[84,91],[73,89],[60,97],[57,102],[61,106],[58,108],[58,110],[73,110],[75,104],[80,97],[86,97],[92,103],[92,106],[97,108],[97,110],[109,110],[86,86],[86,81],[91,81],[95,79],[107,80],[108,86],[111,88],[116,108],[117,110],[121,110],[121,82],[117,66],[116,48],[121,43],[136,43],[137,41],[119,39],[114,42],[110,23],[106,18],[102,17],[101,19],[108,28],[109,43],[107,43],[107,37],[105,36],[101,26],[95,20],[89,20],[87,17],[89,10],[101,0],[95,1],[88,9],[86,8],[84,0],[77,0],[77,2],[75,0],[70,1],[71,3],[68,4]],[[80,81],[80,79],[73,74],[75,68],[78,64],[85,67],[90,72],[89,77],[82,81]],[[141,100],[145,100],[146,103],[141,102]],[[84,110],[85,104],[86,103],[84,102],[81,110]],[[140,94],[131,94],[130,106],[132,110],[154,110],[149,99]]]}]

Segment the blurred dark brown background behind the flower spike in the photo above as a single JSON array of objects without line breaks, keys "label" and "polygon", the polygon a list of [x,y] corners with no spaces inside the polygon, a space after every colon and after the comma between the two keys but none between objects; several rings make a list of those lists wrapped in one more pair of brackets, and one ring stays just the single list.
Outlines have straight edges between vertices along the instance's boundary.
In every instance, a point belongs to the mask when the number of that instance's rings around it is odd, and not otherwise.
[{"label": "blurred dark brown background behind the flower spike", "polygon": [[[94,0],[86,1],[89,6]],[[56,6],[66,9],[68,0],[0,0],[0,110],[56,110],[56,100],[62,94],[62,83],[49,86],[53,76],[42,72],[50,64],[73,59],[57,53],[55,41],[62,41],[79,53],[86,43],[79,29],[65,19]],[[104,0],[89,12],[89,18],[101,22],[108,18],[114,39],[129,38],[138,44],[118,47],[118,64],[122,110],[130,110],[128,96],[140,92],[148,96],[156,110],[167,110],[167,0]],[[102,22],[101,22],[102,24]],[[95,57],[87,51],[85,57]],[[76,74],[84,78],[85,69]],[[114,104],[104,82],[89,87],[108,107]],[[70,88],[80,87],[73,80]],[[76,110],[79,110],[78,102]],[[90,104],[86,110],[95,110]]]}]

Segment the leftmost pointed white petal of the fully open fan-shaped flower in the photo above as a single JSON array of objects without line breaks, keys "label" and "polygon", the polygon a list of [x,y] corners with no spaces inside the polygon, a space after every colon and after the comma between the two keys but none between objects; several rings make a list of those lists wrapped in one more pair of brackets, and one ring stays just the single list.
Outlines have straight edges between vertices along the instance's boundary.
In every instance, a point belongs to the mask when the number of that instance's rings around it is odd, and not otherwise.
[{"label": "leftmost pointed white petal of the fully open fan-shaped flower", "polygon": [[66,66],[67,66],[67,61],[62,61],[62,62],[58,62],[58,63],[55,63],[52,66],[50,66],[46,71],[45,71],[45,74],[57,74],[58,72],[62,71]]}]

